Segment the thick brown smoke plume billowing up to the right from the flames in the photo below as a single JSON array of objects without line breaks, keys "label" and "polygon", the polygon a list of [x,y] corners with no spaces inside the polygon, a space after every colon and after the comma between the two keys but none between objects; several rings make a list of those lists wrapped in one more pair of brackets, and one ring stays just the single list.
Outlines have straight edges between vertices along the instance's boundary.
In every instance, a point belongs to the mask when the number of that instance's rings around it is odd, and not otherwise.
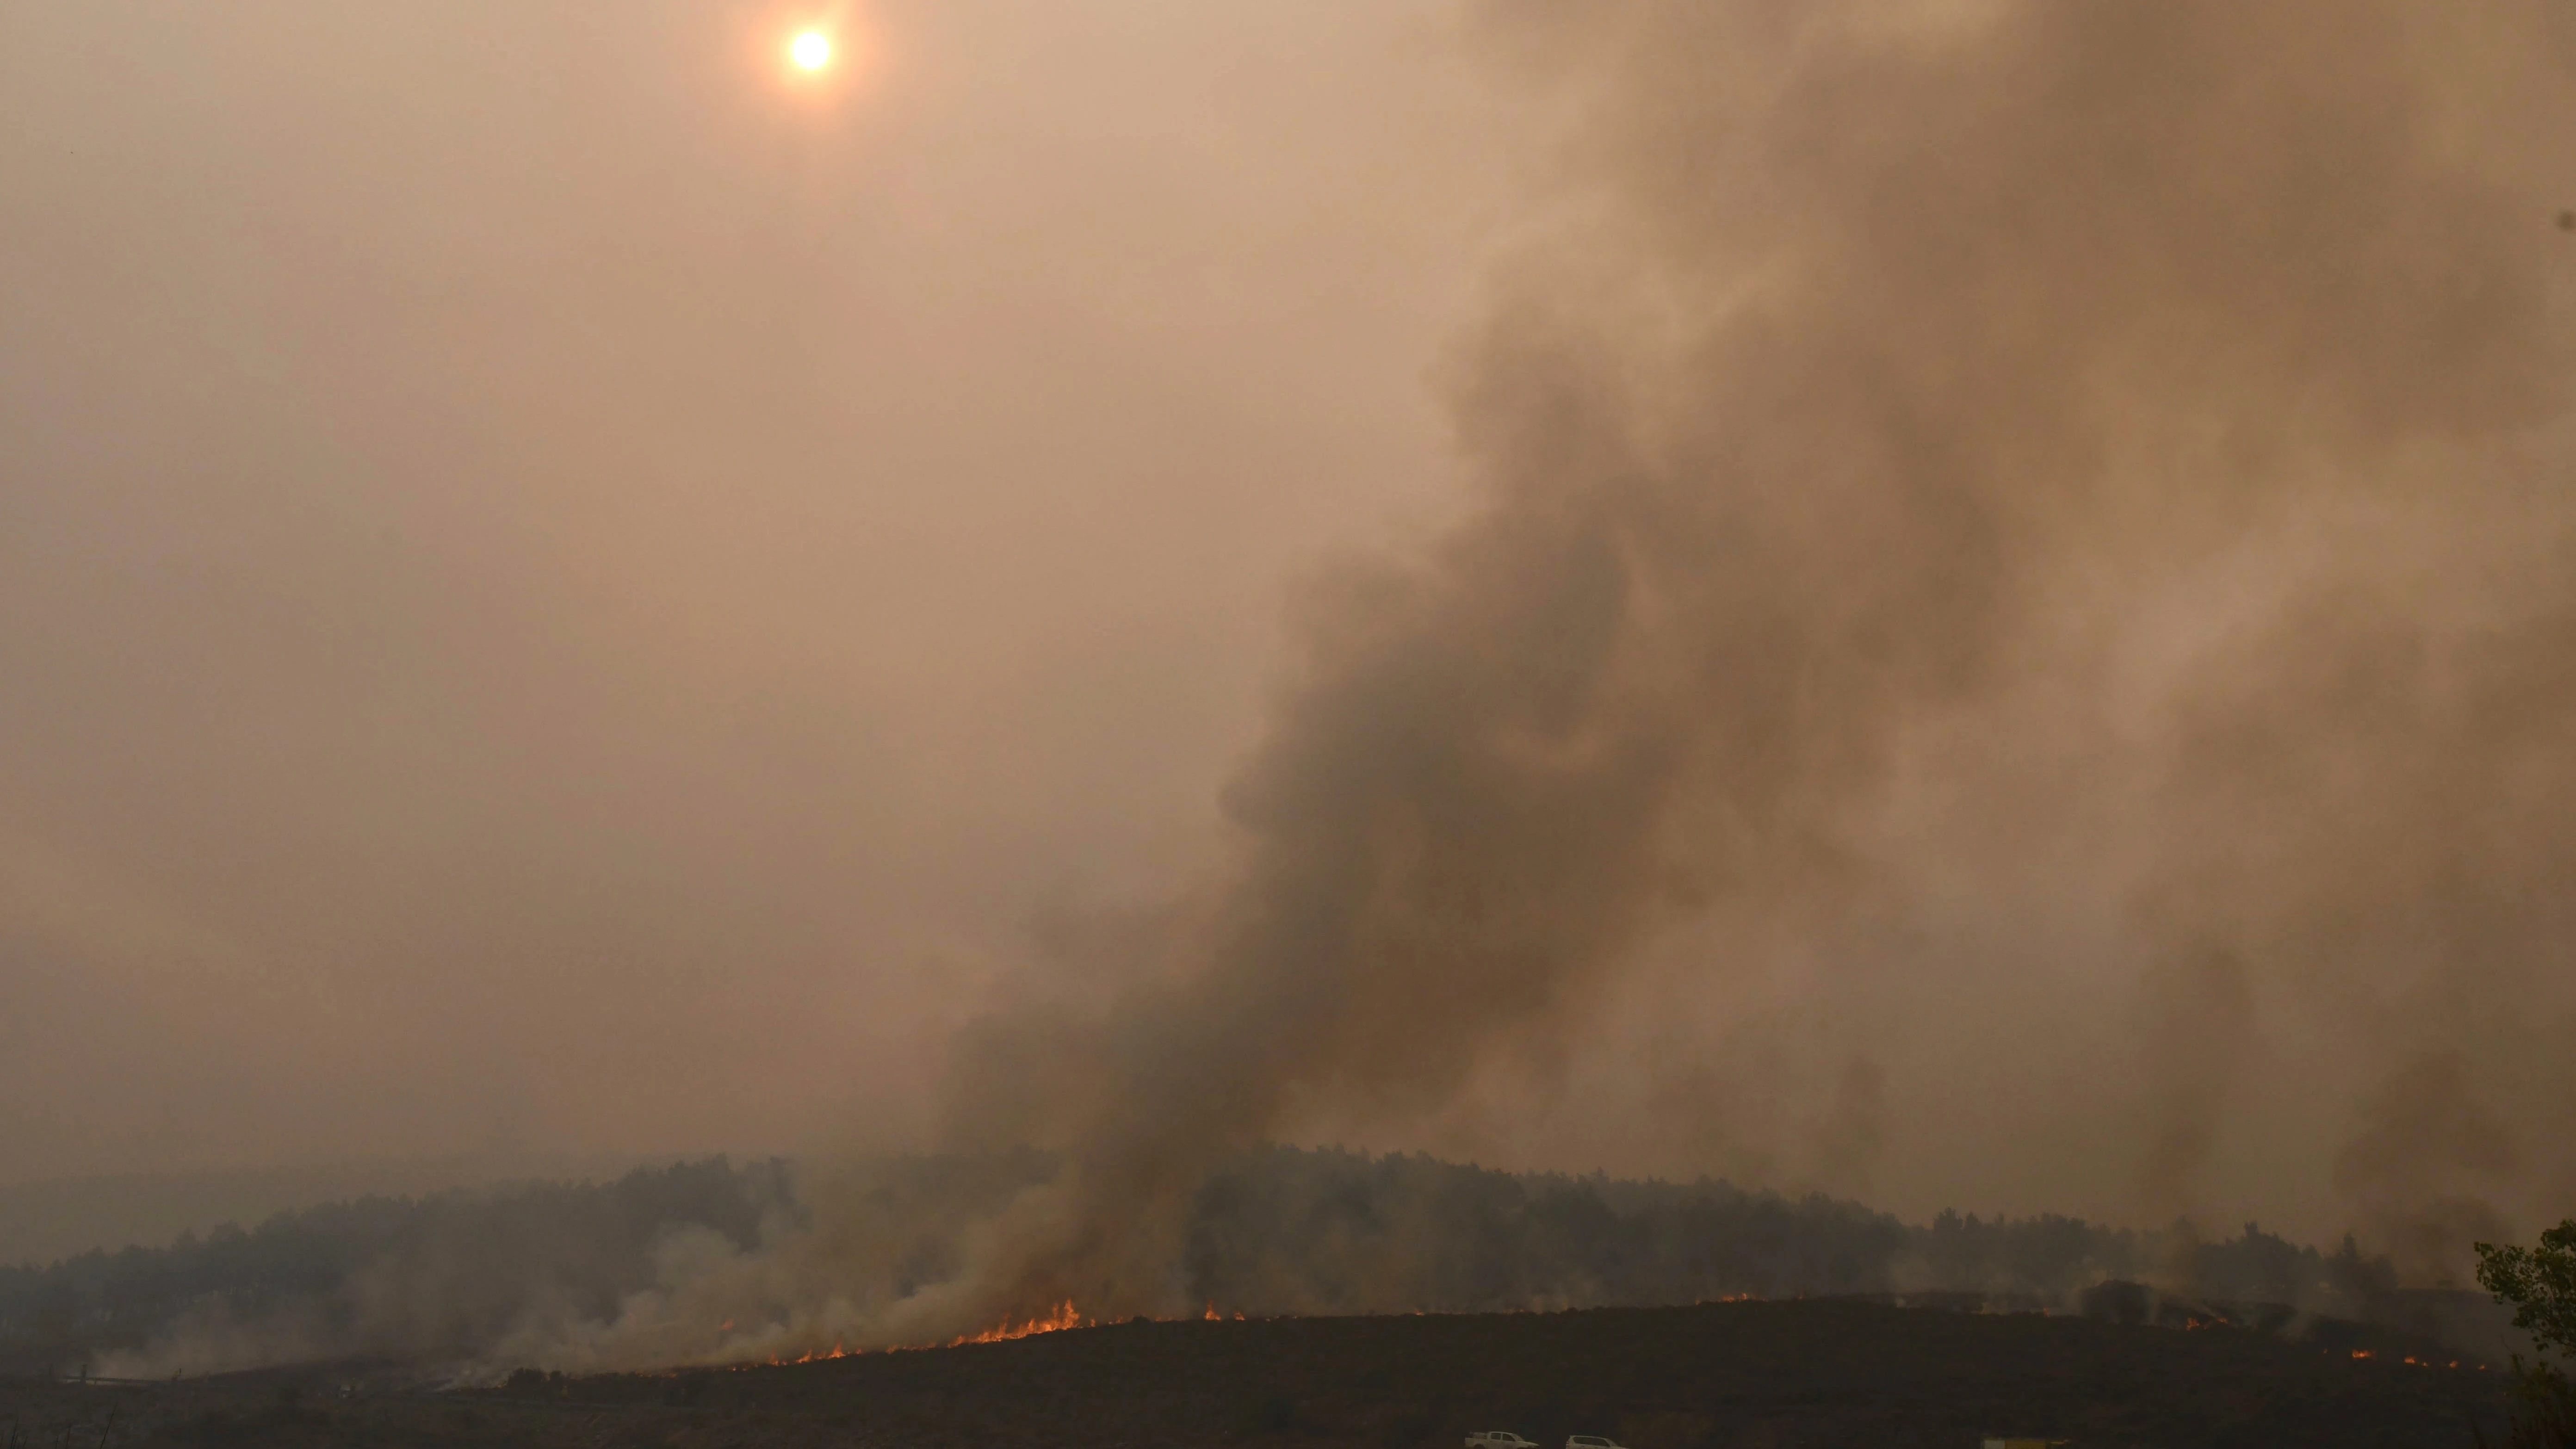
[{"label": "thick brown smoke plume billowing up to the right from the flames", "polygon": [[1494,31],[1574,142],[1458,369],[1481,508],[1316,590],[1242,861],[1139,985],[961,1055],[961,1129],[1072,1168],[940,1310],[1175,1310],[1213,1160],[1437,1104],[1659,944],[1847,946],[1935,882],[2136,972],[2148,1209],[2262,1003],[2349,1029],[2342,1186],[2437,1271],[2519,1168],[2481,1101],[2576,1101],[2566,15]]}]

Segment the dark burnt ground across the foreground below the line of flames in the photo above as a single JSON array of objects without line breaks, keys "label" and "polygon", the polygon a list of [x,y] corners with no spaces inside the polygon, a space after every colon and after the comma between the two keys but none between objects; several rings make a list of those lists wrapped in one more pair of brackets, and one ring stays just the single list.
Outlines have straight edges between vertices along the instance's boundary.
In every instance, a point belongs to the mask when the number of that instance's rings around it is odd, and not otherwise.
[{"label": "dark burnt ground across the foreground below the line of flames", "polygon": [[840,1361],[404,1392],[332,1366],[175,1385],[0,1382],[0,1449],[1543,1446],[2367,1449],[2499,1441],[2504,1374],[2403,1343],[1857,1299],[1455,1318],[1126,1323]]}]

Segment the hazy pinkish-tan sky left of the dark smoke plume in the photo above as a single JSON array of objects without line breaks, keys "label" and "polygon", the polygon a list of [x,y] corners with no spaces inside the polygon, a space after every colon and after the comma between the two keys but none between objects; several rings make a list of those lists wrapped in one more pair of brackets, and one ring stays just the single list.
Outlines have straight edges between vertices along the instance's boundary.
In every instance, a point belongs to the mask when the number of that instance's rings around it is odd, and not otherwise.
[{"label": "hazy pinkish-tan sky left of the dark smoke plume", "polygon": [[0,8],[0,1178],[920,1129],[1443,508],[1440,8]]}]

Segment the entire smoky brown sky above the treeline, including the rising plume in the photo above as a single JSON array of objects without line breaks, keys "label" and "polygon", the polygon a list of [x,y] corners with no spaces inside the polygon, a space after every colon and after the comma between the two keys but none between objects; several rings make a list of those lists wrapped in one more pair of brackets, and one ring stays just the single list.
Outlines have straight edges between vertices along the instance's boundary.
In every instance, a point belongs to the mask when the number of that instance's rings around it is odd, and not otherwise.
[{"label": "entire smoky brown sky above the treeline, including the rising plume", "polygon": [[2563,10],[806,21],[0,3],[0,1181],[2576,1194]]}]

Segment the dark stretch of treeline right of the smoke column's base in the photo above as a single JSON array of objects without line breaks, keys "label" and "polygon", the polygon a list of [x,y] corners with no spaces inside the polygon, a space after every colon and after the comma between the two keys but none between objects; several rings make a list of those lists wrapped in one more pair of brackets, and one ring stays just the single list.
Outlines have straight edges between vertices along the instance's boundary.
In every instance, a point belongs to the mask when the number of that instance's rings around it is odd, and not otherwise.
[{"label": "dark stretch of treeline right of the smoke column's base", "polygon": [[2128,1279],[2210,1299],[2360,1310],[2393,1287],[2257,1225],[2202,1243],[2074,1217],[1927,1227],[1829,1196],[1721,1181],[1515,1176],[1432,1158],[1273,1147],[1198,1196],[1190,1287],[1239,1312],[1473,1312],[1716,1297],[1978,1292],[2071,1302]]}]

